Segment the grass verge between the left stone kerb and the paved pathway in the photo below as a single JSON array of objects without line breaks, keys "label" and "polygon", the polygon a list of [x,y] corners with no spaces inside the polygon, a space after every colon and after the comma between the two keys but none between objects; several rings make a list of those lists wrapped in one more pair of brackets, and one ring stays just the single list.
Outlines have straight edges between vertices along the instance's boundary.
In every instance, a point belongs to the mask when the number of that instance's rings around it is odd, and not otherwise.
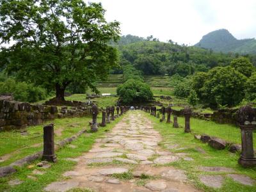
[{"label": "grass verge between the left stone kerb and the paved pathway", "polygon": [[[74,166],[76,165],[76,162],[67,161],[65,160],[65,158],[76,158],[78,156],[81,156],[84,152],[88,152],[88,150],[92,148],[95,139],[103,136],[106,131],[110,131],[121,118],[122,117],[116,118],[116,120],[112,124],[108,124],[104,128],[100,127],[98,132],[83,134],[82,136],[77,138],[77,140],[72,142],[72,145],[77,146],[76,148],[72,148],[72,150],[70,150],[70,148],[68,147],[63,147],[61,150],[56,152],[56,156],[58,157],[58,163],[52,164],[51,168],[45,170],[44,175],[35,175],[36,180],[31,180],[27,177],[28,175],[31,175],[31,172],[33,172],[33,170],[39,170],[39,168],[36,168],[36,166],[34,166],[33,168],[23,166],[22,168],[19,168],[19,171],[17,173],[9,175],[8,177],[0,178],[0,191],[43,191],[47,184],[56,180],[65,180],[66,177],[63,177],[62,174],[64,172],[67,172],[68,170],[72,170],[72,168],[74,168]],[[71,120],[73,123],[77,122],[77,118],[72,118]],[[86,128],[89,129],[88,124],[86,124]],[[33,165],[36,165],[36,163],[38,162],[39,160],[35,161]],[[8,181],[12,179],[20,179],[24,182],[18,186],[13,186],[12,188],[10,188],[10,186],[8,185]],[[74,190],[81,191],[80,189]],[[86,190],[90,191],[90,189],[83,189],[82,191]]]}]

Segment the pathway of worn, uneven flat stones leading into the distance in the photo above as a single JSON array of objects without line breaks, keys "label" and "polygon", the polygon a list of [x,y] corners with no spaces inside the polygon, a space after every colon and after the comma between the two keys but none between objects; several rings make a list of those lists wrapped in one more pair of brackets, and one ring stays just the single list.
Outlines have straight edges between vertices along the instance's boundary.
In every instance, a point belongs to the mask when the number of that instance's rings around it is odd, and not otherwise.
[{"label": "pathway of worn, uneven flat stones leading into the distance", "polygon": [[164,166],[183,156],[161,149],[160,141],[150,120],[139,111],[130,112],[92,150],[76,159],[76,168],[63,174],[66,180],[52,182],[45,191],[198,191],[186,184],[184,170]]}]

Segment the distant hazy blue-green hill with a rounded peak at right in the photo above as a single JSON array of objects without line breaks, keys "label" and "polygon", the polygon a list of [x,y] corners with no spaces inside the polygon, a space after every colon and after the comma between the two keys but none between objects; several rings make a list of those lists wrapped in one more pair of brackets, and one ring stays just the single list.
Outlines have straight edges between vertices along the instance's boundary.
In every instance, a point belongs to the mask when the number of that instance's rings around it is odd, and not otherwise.
[{"label": "distant hazy blue-green hill with a rounded peak at right", "polygon": [[227,29],[219,29],[204,35],[195,46],[218,52],[256,54],[256,40],[254,38],[237,40]]}]

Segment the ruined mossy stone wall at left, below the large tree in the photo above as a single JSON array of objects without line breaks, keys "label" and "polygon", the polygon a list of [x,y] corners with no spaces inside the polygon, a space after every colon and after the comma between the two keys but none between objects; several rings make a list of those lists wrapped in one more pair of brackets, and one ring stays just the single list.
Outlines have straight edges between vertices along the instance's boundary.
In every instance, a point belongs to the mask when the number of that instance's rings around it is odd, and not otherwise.
[{"label": "ruined mossy stone wall at left, below the large tree", "polygon": [[91,115],[90,108],[85,106],[62,107],[31,105],[27,102],[0,100],[0,131],[24,129],[28,125],[38,125],[53,120],[75,116]]}]

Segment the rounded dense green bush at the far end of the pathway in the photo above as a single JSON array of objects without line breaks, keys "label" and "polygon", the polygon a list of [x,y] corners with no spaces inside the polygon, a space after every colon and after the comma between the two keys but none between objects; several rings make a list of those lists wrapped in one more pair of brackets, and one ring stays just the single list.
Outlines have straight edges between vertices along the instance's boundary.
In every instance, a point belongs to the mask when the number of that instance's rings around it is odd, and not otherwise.
[{"label": "rounded dense green bush at the far end of the pathway", "polygon": [[134,79],[129,79],[124,84],[118,86],[116,93],[125,104],[147,102],[153,99],[150,86]]}]

